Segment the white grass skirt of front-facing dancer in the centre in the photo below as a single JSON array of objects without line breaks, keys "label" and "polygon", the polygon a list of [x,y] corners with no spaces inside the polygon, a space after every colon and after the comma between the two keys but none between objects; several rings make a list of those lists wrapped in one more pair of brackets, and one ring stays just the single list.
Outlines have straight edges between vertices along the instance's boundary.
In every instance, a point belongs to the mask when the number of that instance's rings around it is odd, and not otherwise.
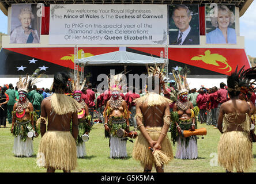
[{"label": "white grass skirt of front-facing dancer in the centre", "polygon": [[110,158],[127,157],[126,140],[116,136],[110,136]]}]

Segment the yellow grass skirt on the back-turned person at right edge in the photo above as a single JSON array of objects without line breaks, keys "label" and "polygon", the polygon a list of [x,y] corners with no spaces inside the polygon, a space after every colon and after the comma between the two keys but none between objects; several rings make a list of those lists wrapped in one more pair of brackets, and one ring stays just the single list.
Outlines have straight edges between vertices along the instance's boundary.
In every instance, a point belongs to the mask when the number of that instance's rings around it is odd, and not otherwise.
[{"label": "yellow grass skirt on the back-turned person at right edge", "polygon": [[228,171],[246,171],[252,165],[252,143],[247,132],[224,132],[218,145],[218,162]]}]

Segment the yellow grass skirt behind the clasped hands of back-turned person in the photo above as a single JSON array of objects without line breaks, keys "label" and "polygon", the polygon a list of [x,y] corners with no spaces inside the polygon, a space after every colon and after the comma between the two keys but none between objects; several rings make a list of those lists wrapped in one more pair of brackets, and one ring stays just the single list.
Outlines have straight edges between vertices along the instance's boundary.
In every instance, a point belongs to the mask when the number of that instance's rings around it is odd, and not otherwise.
[{"label": "yellow grass skirt behind the clasped hands of back-turned person", "polygon": [[[149,136],[152,138],[152,140],[157,141],[162,128],[152,127],[148,129],[149,130],[147,132]],[[165,159],[164,164],[168,164],[168,162],[170,162],[174,158],[174,155],[172,153],[171,141],[170,139],[168,139],[168,136],[165,136],[165,138],[161,142],[161,151],[164,152],[167,158]],[[156,166],[156,161],[153,157],[152,151],[149,150],[148,141],[145,139],[142,133],[139,133],[137,139],[135,140],[133,147],[133,159],[140,161],[142,167],[151,166],[152,164]]]}]

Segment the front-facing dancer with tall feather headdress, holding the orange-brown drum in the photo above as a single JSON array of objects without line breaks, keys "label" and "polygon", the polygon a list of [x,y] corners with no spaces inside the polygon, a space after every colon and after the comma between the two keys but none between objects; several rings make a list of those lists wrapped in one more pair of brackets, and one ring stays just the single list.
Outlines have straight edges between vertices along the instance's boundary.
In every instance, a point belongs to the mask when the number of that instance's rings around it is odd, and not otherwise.
[{"label": "front-facing dancer with tall feather headdress, holding the orange-brown drum", "polygon": [[174,105],[174,111],[171,112],[171,136],[172,141],[178,142],[175,154],[176,159],[197,159],[197,136],[183,137],[183,130],[194,131],[197,128],[196,117],[199,108],[193,107],[193,104],[187,98],[189,85],[187,84],[187,73],[189,70],[180,68],[173,71],[174,78],[178,85],[178,101]]}]

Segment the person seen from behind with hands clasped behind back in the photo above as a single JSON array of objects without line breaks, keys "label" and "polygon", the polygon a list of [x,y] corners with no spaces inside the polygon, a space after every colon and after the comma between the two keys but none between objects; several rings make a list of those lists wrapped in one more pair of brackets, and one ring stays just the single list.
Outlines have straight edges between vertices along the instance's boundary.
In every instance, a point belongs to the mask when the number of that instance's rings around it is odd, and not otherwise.
[{"label": "person seen from behind with hands clasped behind back", "polygon": [[171,141],[167,136],[172,101],[159,95],[161,86],[164,88],[161,75],[159,68],[150,70],[146,80],[146,95],[134,100],[136,105],[135,119],[141,133],[135,140],[133,159],[141,162],[144,173],[150,173],[153,165],[157,173],[162,173],[164,172],[164,164],[168,164],[174,158]]}]

